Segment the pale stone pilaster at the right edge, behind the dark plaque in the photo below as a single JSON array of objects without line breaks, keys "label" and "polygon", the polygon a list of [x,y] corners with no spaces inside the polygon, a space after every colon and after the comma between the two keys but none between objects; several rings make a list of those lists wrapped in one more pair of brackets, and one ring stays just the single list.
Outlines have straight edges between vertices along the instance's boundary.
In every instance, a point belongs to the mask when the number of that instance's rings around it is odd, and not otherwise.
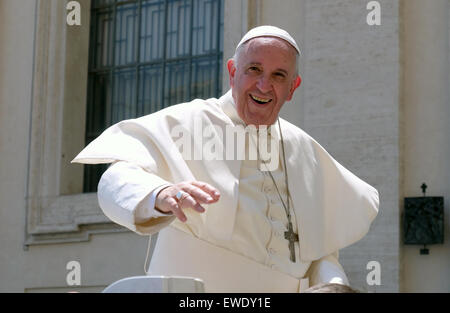
[{"label": "pale stone pilaster at the right edge, behind the dark plaque", "polygon": [[[450,216],[450,103],[448,0],[402,2],[402,191],[404,197],[444,196],[445,241]],[[401,199],[403,205],[403,198]],[[403,210],[403,208],[402,208]],[[401,240],[403,243],[403,240]],[[405,292],[449,292],[450,247],[402,247],[402,283]]]}]

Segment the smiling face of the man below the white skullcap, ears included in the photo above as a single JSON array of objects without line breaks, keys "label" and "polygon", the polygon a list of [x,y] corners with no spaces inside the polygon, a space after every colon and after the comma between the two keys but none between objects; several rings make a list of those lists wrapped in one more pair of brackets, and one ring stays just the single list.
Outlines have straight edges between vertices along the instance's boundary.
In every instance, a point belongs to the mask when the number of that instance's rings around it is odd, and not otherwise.
[{"label": "smiling face of the man below the white skullcap, ears included", "polygon": [[275,37],[251,39],[242,49],[237,63],[228,61],[238,115],[247,125],[272,125],[301,82],[296,51]]}]

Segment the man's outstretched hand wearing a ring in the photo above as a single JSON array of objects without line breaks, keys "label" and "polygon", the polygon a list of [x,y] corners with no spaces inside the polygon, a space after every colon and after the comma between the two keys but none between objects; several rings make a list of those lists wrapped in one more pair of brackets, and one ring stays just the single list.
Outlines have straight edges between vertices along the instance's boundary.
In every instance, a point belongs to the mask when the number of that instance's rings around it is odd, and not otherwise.
[{"label": "man's outstretched hand wearing a ring", "polygon": [[162,189],[155,202],[155,208],[163,213],[173,213],[180,221],[186,222],[183,210],[192,208],[205,212],[201,204],[219,201],[220,192],[213,186],[199,181],[181,182]]}]

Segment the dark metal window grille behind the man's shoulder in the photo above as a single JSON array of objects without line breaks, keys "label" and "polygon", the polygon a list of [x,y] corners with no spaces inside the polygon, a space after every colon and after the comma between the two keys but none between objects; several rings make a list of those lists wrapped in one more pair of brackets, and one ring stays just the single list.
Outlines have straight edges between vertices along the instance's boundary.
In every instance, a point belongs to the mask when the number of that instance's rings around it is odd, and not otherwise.
[{"label": "dark metal window grille behind the man's shoulder", "polygon": [[[223,0],[93,0],[86,144],[124,119],[219,97]],[[86,165],[95,192],[105,165]]]}]

